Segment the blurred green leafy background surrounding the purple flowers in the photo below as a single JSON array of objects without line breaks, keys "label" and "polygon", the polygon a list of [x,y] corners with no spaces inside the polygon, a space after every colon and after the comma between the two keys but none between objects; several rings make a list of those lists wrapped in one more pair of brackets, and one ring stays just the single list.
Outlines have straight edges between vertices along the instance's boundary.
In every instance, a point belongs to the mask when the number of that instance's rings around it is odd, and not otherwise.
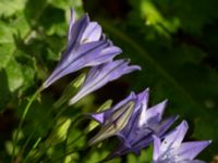
[{"label": "blurred green leafy background surrounding the purple flowers", "polygon": [[[169,99],[166,115],[179,114],[180,121],[189,122],[186,140],[213,139],[199,159],[218,162],[217,0],[0,0],[0,162],[10,162],[11,139],[24,105],[65,48],[71,7],[77,16],[88,12],[123,49],[120,57],[130,58],[143,70],[108,84],[75,109],[69,109],[62,118],[94,112],[108,99],[116,103],[131,90],[138,92],[149,87],[150,105]],[[49,130],[46,124],[58,111],[49,115],[46,112],[76,75],[57,82],[35,101],[20,145],[33,128],[37,128],[35,140]],[[59,135],[60,142],[80,135],[86,124],[68,126],[66,137]],[[65,133],[63,129],[62,135]],[[77,146],[85,146],[88,138],[80,139]],[[56,138],[53,143],[58,141]],[[94,147],[64,161],[95,163],[112,149],[109,142],[117,145],[112,138],[105,141],[101,150]],[[62,143],[48,155],[62,153],[60,149]],[[144,163],[150,158],[152,148],[143,150],[141,158],[129,154],[111,162]]]}]

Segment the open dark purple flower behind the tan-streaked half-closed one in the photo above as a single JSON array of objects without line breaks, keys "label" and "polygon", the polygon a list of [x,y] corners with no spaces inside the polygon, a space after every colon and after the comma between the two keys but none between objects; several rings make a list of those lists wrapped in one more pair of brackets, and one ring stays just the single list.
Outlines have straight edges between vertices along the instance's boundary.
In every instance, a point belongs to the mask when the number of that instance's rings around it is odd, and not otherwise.
[{"label": "open dark purple flower behind the tan-streaked half-closed one", "polygon": [[[177,116],[161,120],[167,101],[147,109],[148,95],[148,89],[138,95],[132,92],[125,100],[121,101],[121,103],[125,103],[129,99],[135,99],[136,103],[125,127],[114,134],[120,138],[121,145],[107,158],[107,160],[128,152],[140,154],[142,148],[152,143],[153,135],[164,137],[165,133],[177,120]],[[93,114],[92,117],[104,125],[118,109],[119,108],[116,105],[110,110]]]}]

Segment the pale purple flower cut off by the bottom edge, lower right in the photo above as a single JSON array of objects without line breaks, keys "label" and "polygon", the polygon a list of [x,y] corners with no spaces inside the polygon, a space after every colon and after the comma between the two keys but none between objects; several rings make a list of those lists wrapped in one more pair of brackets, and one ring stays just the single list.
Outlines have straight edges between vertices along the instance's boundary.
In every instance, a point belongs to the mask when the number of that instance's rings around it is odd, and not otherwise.
[{"label": "pale purple flower cut off by the bottom edge, lower right", "polygon": [[193,160],[211,141],[182,142],[187,131],[187,123],[183,121],[173,131],[166,136],[161,142],[160,138],[154,136],[154,163],[203,163]]}]

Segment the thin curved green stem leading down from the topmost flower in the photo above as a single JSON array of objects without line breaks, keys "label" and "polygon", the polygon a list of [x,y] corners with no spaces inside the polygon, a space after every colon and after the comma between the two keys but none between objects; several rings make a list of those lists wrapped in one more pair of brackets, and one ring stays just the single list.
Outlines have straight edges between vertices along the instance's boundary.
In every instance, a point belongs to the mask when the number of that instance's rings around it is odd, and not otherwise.
[{"label": "thin curved green stem leading down from the topmost flower", "polygon": [[23,111],[21,121],[20,121],[20,123],[19,123],[19,128],[17,128],[17,130],[15,131],[15,136],[14,136],[14,139],[13,139],[12,162],[13,162],[14,155],[15,155],[15,147],[16,147],[16,143],[17,143],[19,133],[20,133],[21,129],[22,129],[24,120],[25,120],[25,117],[26,117],[26,114],[28,113],[28,110],[29,110],[32,103],[33,103],[34,100],[37,98],[37,96],[39,95],[40,91],[41,91],[41,87],[40,87],[39,89],[37,89],[36,92],[32,96],[32,98],[29,99],[28,103],[26,104],[26,106],[25,106],[25,109],[24,109],[24,111]]}]

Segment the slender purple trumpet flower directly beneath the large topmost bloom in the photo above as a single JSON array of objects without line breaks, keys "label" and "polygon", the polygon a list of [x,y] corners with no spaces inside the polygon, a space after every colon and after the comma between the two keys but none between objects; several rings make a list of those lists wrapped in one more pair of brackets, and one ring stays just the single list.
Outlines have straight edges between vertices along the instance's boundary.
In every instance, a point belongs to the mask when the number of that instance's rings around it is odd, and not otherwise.
[{"label": "slender purple trumpet flower directly beneath the large topmost bloom", "polygon": [[137,65],[129,66],[129,60],[117,60],[94,66],[87,74],[78,92],[70,100],[70,104],[77,102],[86,95],[99,89],[107,83],[114,80],[124,74],[141,70]]}]

